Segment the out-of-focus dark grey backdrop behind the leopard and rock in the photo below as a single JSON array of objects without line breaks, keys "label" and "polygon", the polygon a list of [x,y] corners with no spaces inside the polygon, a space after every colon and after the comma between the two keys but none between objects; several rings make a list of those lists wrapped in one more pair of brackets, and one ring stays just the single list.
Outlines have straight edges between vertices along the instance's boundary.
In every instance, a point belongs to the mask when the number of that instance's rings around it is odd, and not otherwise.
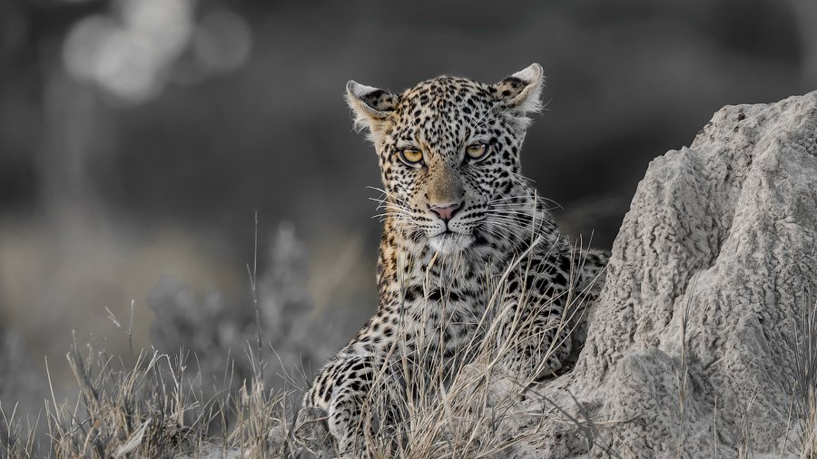
[{"label": "out-of-focus dark grey backdrop behind the leopard and rock", "polygon": [[273,386],[320,366],[376,306],[349,79],[542,63],[525,173],[609,248],[655,156],[817,89],[814,24],[813,0],[0,0],[0,403],[41,409],[46,357],[70,393],[74,336],[206,377],[246,374],[260,323]]}]

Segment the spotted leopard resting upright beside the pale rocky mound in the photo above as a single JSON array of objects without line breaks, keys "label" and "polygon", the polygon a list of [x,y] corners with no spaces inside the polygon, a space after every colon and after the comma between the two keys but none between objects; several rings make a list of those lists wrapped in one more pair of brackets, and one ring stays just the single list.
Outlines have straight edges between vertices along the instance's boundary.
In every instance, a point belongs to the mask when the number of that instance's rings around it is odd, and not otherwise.
[{"label": "spotted leopard resting upright beside the pale rocky mound", "polygon": [[542,380],[566,365],[576,346],[566,309],[575,292],[583,304],[598,296],[609,254],[572,244],[522,175],[544,82],[533,63],[498,83],[442,75],[402,93],[347,83],[383,186],[378,307],[317,372],[299,415],[325,412],[341,456],[362,455],[362,406],[384,375],[405,388],[407,358],[454,367],[491,329],[494,339],[533,337],[501,357],[509,374]]}]

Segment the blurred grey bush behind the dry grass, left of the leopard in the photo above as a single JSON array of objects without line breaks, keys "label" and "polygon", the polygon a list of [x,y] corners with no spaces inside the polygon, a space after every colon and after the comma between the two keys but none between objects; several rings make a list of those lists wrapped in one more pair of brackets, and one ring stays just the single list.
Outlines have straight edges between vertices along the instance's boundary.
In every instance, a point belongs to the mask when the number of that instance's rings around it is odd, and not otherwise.
[{"label": "blurred grey bush behind the dry grass, left of the leopard", "polygon": [[[305,386],[303,377],[292,381],[287,375],[299,375],[293,369],[326,358],[320,348],[325,340],[310,339],[315,330],[310,334],[307,328],[314,305],[306,288],[306,249],[284,224],[272,235],[262,262],[269,267],[259,278],[255,263],[248,265],[251,298],[226,298],[219,292],[196,298],[182,282],[162,277],[148,296],[156,317],[151,326],[153,346],[166,353],[188,349],[205,380],[218,378],[229,366],[232,390],[253,377],[278,389]],[[320,336],[330,332],[321,330]],[[249,351],[253,356],[245,358]],[[253,368],[253,359],[262,364]]]}]

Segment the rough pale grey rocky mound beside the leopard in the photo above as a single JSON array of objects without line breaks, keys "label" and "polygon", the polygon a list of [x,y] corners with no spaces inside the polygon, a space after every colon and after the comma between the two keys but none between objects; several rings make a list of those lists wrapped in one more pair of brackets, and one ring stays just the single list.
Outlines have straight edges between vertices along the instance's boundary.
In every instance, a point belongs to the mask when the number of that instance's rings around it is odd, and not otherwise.
[{"label": "rough pale grey rocky mound beside the leopard", "polygon": [[587,426],[546,423],[511,455],[799,454],[789,410],[794,329],[817,299],[815,136],[817,92],[724,107],[652,161],[576,368],[537,388],[551,416]]}]

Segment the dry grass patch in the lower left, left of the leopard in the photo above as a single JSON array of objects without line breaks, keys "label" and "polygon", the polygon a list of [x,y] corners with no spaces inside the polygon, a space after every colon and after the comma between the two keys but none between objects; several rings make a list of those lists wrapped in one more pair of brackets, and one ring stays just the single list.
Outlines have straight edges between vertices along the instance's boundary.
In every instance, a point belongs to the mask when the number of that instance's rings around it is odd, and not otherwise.
[{"label": "dry grass patch in the lower left, left of the leopard", "polygon": [[0,406],[2,457],[263,457],[272,428],[291,411],[290,394],[264,391],[259,379],[237,393],[225,372],[216,396],[205,398],[189,355],[142,352],[132,368],[74,346],[67,354],[79,396],[44,402],[45,435]]}]

